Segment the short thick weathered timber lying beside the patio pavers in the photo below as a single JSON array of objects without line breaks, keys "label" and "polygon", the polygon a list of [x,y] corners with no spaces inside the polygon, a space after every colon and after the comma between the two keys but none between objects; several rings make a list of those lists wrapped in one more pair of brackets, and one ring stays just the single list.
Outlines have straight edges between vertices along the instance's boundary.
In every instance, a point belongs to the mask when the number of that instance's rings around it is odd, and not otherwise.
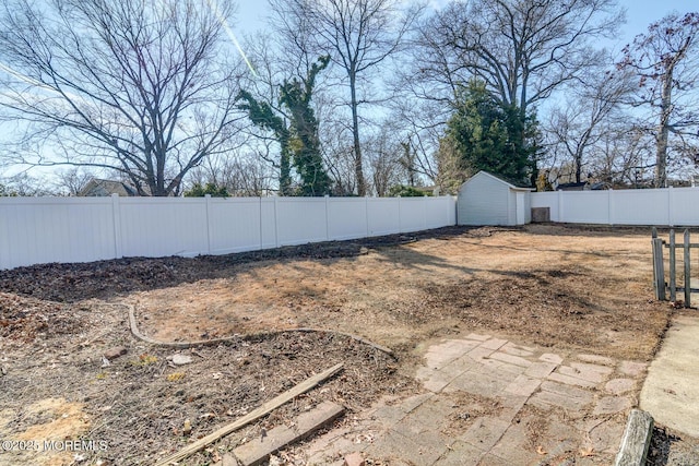
[{"label": "short thick weathered timber lying beside the patio pavers", "polygon": [[296,419],[295,426],[279,426],[233,451],[244,466],[257,466],[264,463],[272,453],[297,442],[329,422],[335,420],[345,408],[332,402],[323,402],[315,409],[304,413]]}]

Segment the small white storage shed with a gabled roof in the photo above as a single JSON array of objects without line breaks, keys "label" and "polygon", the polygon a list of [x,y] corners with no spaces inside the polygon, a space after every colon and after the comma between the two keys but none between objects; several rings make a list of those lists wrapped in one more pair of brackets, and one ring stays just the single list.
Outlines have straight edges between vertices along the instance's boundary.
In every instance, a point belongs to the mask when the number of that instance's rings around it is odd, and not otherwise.
[{"label": "small white storage shed with a gabled roof", "polygon": [[459,225],[524,225],[532,220],[532,188],[478,171],[459,189]]}]

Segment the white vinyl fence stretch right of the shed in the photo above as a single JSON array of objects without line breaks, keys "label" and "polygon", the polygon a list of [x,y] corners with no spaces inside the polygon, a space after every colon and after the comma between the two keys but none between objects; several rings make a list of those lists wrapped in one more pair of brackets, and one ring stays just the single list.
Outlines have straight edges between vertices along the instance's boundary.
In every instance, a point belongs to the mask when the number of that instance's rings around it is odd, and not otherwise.
[{"label": "white vinyl fence stretch right of the shed", "polygon": [[572,224],[699,226],[699,188],[534,192],[532,207]]}]

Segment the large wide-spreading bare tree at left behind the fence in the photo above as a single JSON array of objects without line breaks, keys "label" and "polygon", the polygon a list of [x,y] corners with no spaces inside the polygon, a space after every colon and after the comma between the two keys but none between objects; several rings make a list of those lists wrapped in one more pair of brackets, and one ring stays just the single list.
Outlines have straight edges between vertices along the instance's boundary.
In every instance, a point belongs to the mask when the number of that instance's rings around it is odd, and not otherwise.
[{"label": "large wide-spreading bare tree at left behind the fence", "polygon": [[177,194],[242,118],[240,69],[222,58],[233,7],[212,4],[3,0],[0,105],[29,128],[16,162],[114,169],[141,195]]}]

